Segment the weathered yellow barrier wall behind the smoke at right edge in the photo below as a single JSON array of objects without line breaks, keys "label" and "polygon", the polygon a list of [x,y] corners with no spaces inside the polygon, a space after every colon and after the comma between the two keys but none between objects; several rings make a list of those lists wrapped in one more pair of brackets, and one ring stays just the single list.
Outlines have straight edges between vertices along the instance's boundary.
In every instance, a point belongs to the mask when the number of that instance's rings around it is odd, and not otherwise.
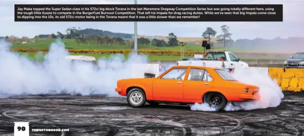
[{"label": "weathered yellow barrier wall behind the smoke at right edge", "polygon": [[304,69],[300,68],[268,68],[269,76],[278,80],[284,91],[304,91]]}]

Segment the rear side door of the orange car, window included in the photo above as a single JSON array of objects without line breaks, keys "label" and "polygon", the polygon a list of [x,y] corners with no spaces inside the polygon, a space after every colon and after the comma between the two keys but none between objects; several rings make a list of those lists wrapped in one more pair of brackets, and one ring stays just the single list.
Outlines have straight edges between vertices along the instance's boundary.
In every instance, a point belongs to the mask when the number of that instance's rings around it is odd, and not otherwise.
[{"label": "rear side door of the orange car, window included", "polygon": [[205,69],[191,68],[188,78],[184,83],[184,99],[199,102],[202,95],[211,90],[213,79]]}]

